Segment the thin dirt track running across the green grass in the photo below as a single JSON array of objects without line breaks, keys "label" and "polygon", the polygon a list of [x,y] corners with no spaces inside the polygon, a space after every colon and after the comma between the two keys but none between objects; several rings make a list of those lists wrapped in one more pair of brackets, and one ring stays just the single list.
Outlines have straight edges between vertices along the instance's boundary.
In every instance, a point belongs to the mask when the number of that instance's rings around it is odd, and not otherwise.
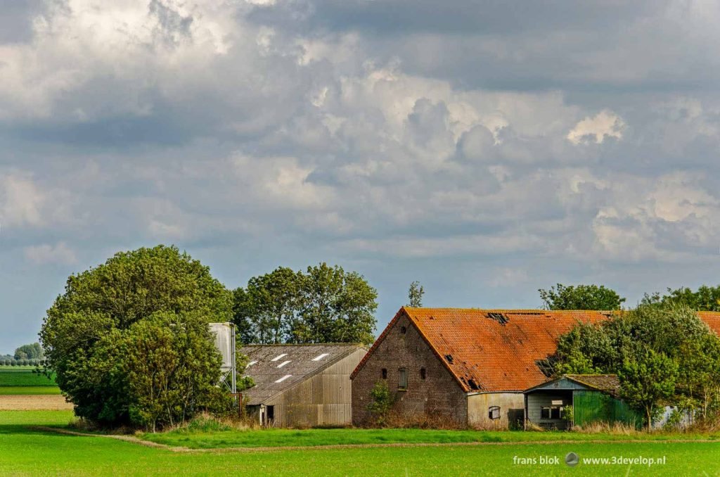
[{"label": "thin dirt track running across the green grass", "polygon": [[86,432],[76,432],[68,429],[58,429],[57,427],[32,427],[32,429],[42,430],[46,432],[58,432],[60,434],[69,434],[83,437],[105,437],[108,439],[122,440],[132,444],[144,445],[145,447],[155,447],[157,449],[169,450],[174,453],[210,453],[210,454],[227,454],[227,453],[271,453],[282,452],[285,450],[336,450],[336,449],[376,449],[381,447],[453,447],[453,446],[490,446],[490,445],[547,445],[547,444],[670,444],[680,442],[706,442],[708,444],[718,445],[717,441],[696,440],[696,439],[678,439],[678,440],[537,440],[523,442],[393,442],[387,444],[338,444],[338,445],[292,445],[285,447],[221,447],[217,449],[191,449],[190,447],[174,447],[171,445],[158,444],[148,440],[142,440],[138,437],[127,435],[113,434],[88,434]]}]

